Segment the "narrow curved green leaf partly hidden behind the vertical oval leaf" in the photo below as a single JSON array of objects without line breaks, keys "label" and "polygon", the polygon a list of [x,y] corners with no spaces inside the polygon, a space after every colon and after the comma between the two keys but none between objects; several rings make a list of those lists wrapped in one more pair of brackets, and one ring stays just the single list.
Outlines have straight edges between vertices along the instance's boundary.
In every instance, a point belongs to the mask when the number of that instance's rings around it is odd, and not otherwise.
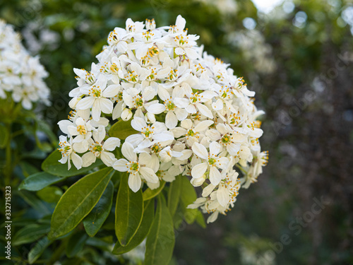
[{"label": "narrow curved green leaf partly hidden behind the vertical oval leaf", "polygon": [[114,246],[112,253],[116,255],[124,254],[140,245],[145,239],[145,237],[148,235],[148,232],[150,231],[154,215],[155,200],[145,201],[143,208],[143,218],[136,234],[133,236],[132,240],[128,243],[126,247],[121,246],[118,240]]}]

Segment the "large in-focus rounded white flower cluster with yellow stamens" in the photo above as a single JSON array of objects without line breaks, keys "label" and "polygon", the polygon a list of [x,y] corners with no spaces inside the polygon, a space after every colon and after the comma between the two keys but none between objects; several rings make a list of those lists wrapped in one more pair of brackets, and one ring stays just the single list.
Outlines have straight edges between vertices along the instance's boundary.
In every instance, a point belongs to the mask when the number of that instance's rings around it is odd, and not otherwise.
[{"label": "large in-focus rounded white flower cluster with yellow stamens", "polygon": [[[128,172],[133,192],[146,183],[150,189],[178,175],[191,176],[202,197],[191,208],[225,213],[241,185],[249,187],[262,171],[267,154],[258,138],[263,131],[252,97],[242,78],[220,59],[198,47],[188,35],[186,20],[156,28],[154,20],[126,20],[115,28],[109,45],[97,56],[91,71],[74,69],[78,88],[71,90],[73,115],[59,126],[61,163],[76,167],[96,157],[115,170]],[[106,117],[131,121],[136,134],[121,146],[124,158],[113,153],[119,139],[109,137]],[[85,153],[82,158],[77,153]],[[243,178],[238,180],[237,169]]]}]

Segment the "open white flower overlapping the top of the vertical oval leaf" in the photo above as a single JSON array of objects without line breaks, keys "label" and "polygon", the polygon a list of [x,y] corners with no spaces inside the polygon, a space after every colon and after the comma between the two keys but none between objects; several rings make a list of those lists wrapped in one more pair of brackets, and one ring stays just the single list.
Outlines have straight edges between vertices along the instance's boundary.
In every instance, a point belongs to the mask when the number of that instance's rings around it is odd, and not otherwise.
[{"label": "open white flower overlapping the top of the vertical oval leaf", "polygon": [[114,170],[121,172],[128,172],[128,187],[132,189],[133,192],[137,192],[142,183],[142,179],[146,182],[157,183],[158,177],[155,172],[148,165],[150,164],[150,155],[147,153],[140,153],[139,157],[133,151],[133,146],[131,143],[125,142],[121,147],[121,153],[124,157],[117,160],[113,167]]}]

